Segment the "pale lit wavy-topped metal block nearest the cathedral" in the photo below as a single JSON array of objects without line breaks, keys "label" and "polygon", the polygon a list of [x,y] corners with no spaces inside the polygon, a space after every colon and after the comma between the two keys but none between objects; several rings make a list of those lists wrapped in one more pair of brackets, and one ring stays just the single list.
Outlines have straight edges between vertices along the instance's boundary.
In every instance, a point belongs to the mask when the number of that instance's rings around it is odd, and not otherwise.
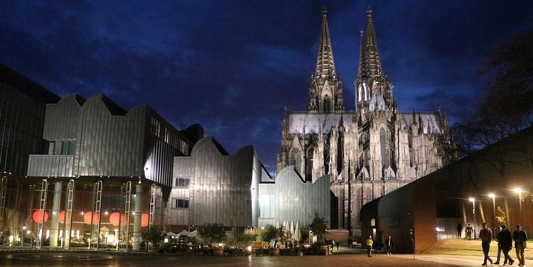
[{"label": "pale lit wavy-topped metal block nearest the cathedral", "polygon": [[286,167],[275,181],[259,185],[259,227],[285,221],[308,226],[313,222],[314,213],[318,212],[330,228],[331,198],[329,175],[315,182],[305,182],[294,166]]}]

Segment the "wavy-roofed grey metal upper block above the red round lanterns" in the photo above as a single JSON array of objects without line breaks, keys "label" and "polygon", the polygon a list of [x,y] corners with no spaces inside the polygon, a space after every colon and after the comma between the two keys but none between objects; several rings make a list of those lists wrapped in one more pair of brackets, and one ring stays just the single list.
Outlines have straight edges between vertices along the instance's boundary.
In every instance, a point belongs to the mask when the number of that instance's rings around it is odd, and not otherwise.
[{"label": "wavy-roofed grey metal upper block above the red round lanterns", "polygon": [[170,187],[173,157],[193,145],[150,107],[126,111],[102,94],[70,94],[45,114],[47,150],[30,156],[28,176],[140,177]]}]

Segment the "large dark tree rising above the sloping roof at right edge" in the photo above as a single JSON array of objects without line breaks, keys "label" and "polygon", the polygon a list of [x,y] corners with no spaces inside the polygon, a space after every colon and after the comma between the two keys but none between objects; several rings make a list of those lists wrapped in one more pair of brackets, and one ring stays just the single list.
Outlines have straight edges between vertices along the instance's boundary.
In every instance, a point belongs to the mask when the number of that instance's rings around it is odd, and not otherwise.
[{"label": "large dark tree rising above the sloping roof at right edge", "polygon": [[[478,69],[475,78],[485,80],[485,87],[475,103],[475,113],[453,127],[460,156],[469,156],[533,126],[532,47],[533,31],[500,45]],[[498,153],[483,155],[485,162],[502,178],[510,164],[533,170],[533,158],[528,151],[533,146],[532,134],[533,131],[522,134],[524,143],[519,147],[498,145]]]}]

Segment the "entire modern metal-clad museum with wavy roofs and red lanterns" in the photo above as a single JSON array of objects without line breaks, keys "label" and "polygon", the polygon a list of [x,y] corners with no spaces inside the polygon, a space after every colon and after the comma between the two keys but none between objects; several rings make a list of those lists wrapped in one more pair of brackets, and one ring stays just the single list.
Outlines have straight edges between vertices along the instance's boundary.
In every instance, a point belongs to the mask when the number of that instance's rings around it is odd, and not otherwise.
[{"label": "entire modern metal-clad museum with wavy roofs and red lanterns", "polygon": [[[199,124],[178,130],[102,94],[60,98],[3,65],[0,89],[0,246],[139,250],[154,225],[330,217],[328,178],[305,182],[291,166],[271,178],[252,146],[230,155]],[[292,214],[295,201],[313,204]]]}]

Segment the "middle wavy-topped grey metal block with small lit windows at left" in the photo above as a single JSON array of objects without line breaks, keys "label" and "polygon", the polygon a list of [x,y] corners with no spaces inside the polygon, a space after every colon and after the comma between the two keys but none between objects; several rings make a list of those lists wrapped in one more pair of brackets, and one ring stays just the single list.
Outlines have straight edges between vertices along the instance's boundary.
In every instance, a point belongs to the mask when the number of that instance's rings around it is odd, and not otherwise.
[{"label": "middle wavy-topped grey metal block with small lit windows at left", "polygon": [[[188,187],[173,187],[167,205],[168,224],[257,227],[254,218],[262,169],[252,146],[232,156],[215,138],[201,139],[190,156],[174,158],[173,177],[188,179]],[[180,200],[186,200],[188,207],[179,207]]]}]

